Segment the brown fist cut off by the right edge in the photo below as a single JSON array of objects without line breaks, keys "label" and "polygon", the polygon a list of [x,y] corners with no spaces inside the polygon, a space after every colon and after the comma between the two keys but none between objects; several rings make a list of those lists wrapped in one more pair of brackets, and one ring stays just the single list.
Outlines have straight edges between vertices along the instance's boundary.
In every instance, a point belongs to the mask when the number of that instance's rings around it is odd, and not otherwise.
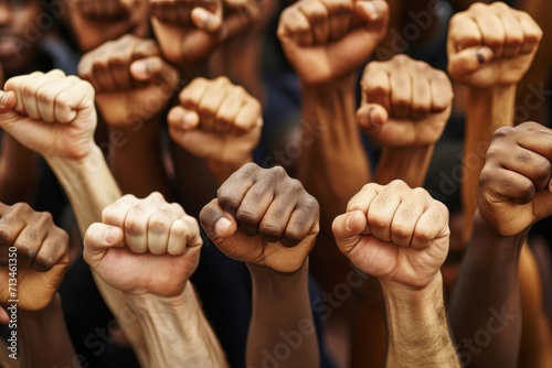
[{"label": "brown fist cut off by the right edge", "polygon": [[500,236],[552,215],[552,130],[526,122],[495,132],[477,191],[479,213]]}]

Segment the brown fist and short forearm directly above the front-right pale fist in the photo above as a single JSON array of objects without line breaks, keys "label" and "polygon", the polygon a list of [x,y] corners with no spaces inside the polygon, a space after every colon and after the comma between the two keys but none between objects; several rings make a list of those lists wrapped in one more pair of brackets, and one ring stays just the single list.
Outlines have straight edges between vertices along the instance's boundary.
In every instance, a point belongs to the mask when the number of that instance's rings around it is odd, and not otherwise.
[{"label": "brown fist and short forearm directly above the front-right pale fist", "polygon": [[445,73],[405,55],[372,62],[362,76],[361,128],[382,147],[375,182],[425,182],[435,143],[450,116],[453,87]]}]

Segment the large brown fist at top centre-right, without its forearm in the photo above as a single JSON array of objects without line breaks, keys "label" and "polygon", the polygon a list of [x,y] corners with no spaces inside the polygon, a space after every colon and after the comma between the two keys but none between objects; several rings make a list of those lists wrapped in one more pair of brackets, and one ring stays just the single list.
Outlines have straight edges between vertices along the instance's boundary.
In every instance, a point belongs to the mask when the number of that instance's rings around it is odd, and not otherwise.
[{"label": "large brown fist at top centre-right, without its forearm", "polygon": [[388,23],[385,1],[300,0],[282,13],[277,35],[299,78],[316,85],[353,73]]}]

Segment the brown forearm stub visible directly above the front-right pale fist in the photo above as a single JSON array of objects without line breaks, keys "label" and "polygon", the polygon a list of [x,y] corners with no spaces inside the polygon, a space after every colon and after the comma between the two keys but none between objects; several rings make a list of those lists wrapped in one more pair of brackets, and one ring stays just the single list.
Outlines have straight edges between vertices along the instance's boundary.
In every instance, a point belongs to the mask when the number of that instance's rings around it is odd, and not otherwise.
[{"label": "brown forearm stub visible directly above the front-right pale fist", "polygon": [[374,181],[385,185],[400,178],[410,187],[421,187],[425,183],[432,161],[434,145],[384,149],[375,170]]}]

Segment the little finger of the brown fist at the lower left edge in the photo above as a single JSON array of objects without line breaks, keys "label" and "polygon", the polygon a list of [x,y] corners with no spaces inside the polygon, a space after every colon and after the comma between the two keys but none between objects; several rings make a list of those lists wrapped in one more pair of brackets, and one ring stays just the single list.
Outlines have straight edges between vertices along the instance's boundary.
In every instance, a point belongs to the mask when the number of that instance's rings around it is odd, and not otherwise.
[{"label": "little finger of the brown fist at the lower left edge", "polygon": [[32,268],[40,272],[47,272],[54,266],[65,260],[67,262],[68,236],[62,229],[52,229],[43,239],[39,252],[34,257]]}]

